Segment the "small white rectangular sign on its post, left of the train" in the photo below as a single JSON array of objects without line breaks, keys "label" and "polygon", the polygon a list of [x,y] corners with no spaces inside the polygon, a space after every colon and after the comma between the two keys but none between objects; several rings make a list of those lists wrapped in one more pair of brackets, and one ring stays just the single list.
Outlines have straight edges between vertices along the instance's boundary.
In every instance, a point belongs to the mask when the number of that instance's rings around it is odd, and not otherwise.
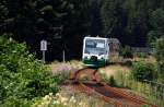
[{"label": "small white rectangular sign on its post, left of the train", "polygon": [[42,40],[40,41],[40,50],[43,51],[43,62],[45,63],[46,61],[46,51],[47,51],[47,40]]}]

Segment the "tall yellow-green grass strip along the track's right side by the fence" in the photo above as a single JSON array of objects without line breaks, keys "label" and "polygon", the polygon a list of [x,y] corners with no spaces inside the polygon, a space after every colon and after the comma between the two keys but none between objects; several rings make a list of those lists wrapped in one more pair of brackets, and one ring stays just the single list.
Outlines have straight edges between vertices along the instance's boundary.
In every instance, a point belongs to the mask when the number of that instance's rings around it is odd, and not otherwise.
[{"label": "tall yellow-green grass strip along the track's right side by the fence", "polygon": [[139,82],[132,78],[130,72],[118,71],[115,80],[117,85],[120,87],[129,88],[130,91],[143,96],[151,104],[164,106],[163,91],[159,92],[160,88],[156,85],[152,85],[145,82]]}]

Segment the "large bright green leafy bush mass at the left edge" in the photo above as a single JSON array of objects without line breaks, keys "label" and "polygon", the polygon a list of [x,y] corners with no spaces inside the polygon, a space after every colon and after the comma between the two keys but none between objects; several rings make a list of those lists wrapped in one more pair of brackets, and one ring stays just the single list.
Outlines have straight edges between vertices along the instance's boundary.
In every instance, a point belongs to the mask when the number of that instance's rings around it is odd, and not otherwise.
[{"label": "large bright green leafy bush mass at the left edge", "polygon": [[0,37],[0,106],[25,107],[58,91],[58,76],[28,54],[25,44]]}]

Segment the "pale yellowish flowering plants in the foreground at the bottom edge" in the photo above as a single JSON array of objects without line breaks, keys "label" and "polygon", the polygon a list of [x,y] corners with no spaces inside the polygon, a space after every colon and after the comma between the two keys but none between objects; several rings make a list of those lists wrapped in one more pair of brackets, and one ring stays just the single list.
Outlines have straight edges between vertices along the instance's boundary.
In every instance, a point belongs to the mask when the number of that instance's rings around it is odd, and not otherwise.
[{"label": "pale yellowish flowering plants in the foreground at the bottom edge", "polygon": [[32,107],[110,107],[114,105],[93,94],[60,92],[56,95],[52,93],[46,95],[40,100],[36,100]]}]

